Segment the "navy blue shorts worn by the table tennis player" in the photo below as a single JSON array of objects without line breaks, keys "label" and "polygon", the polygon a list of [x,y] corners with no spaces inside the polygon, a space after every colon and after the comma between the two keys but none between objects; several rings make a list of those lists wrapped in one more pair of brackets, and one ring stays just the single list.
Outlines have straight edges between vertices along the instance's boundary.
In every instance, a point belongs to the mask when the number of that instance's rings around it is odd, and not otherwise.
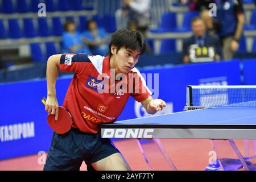
[{"label": "navy blue shorts worn by the table tennis player", "polygon": [[100,134],[83,133],[71,129],[68,133],[53,133],[51,147],[47,155],[44,171],[76,170],[82,162],[90,164],[119,152],[110,139],[101,138]]}]

